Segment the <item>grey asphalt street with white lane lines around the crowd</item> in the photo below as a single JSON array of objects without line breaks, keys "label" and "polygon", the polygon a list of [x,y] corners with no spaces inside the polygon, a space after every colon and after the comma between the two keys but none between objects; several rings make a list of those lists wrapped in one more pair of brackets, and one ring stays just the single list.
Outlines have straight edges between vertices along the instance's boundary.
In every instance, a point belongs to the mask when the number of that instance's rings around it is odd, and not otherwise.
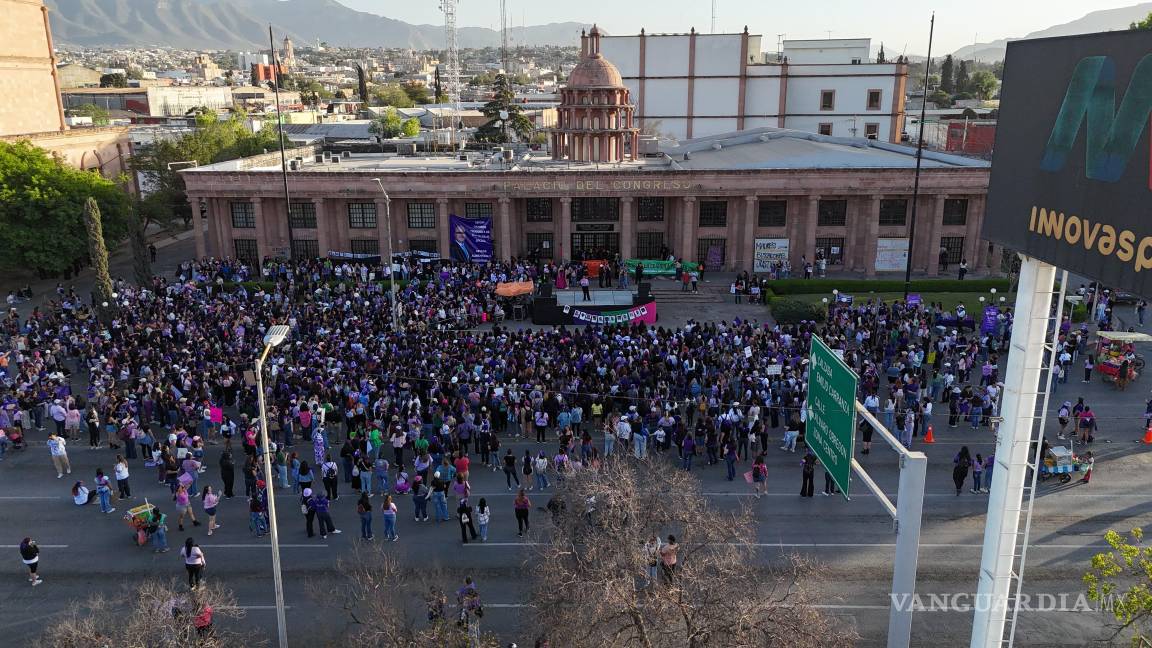
[{"label": "grey asphalt street with white lane lines around the crowd", "polygon": [[[180,255],[189,254],[190,241],[180,241],[161,250],[161,270],[175,265]],[[121,262],[122,263],[122,262]],[[121,272],[114,265],[114,273]],[[123,272],[127,273],[127,272]],[[83,286],[86,279],[77,281]],[[82,291],[82,294],[86,294]],[[733,316],[759,317],[763,307],[735,304],[673,304],[661,307],[668,323],[696,318]],[[665,324],[664,317],[661,324]],[[1144,349],[1147,352],[1149,349]],[[1069,603],[1083,592],[1081,574],[1094,551],[1104,547],[1102,534],[1109,528],[1127,530],[1152,522],[1152,504],[1143,489],[1132,484],[1147,482],[1152,469],[1152,446],[1135,443],[1140,436],[1144,400],[1152,387],[1152,378],[1135,383],[1127,393],[1111,386],[1092,383],[1084,385],[1074,372],[1067,385],[1060,385],[1053,398],[1052,410],[1059,400],[1084,395],[1097,410],[1100,432],[1093,451],[1097,470],[1091,487],[1044,485],[1037,497],[1032,522],[1032,547],[1025,568],[1025,592],[1030,594],[1066,594]],[[1058,400],[1059,399],[1059,400]],[[1054,416],[1049,417],[1051,439],[1055,438]],[[945,416],[937,416],[946,423]],[[119,503],[118,512],[104,515],[92,505],[76,507],[69,497],[71,485],[53,477],[47,450],[43,445],[46,432],[32,436],[32,444],[21,452],[9,451],[0,461],[0,601],[5,615],[0,616],[0,634],[5,645],[32,645],[35,638],[53,616],[70,602],[93,593],[114,593],[130,587],[137,579],[157,575],[183,578],[177,552],[156,555],[150,549],[134,545],[130,533],[120,519],[130,504]],[[971,452],[987,454],[993,437],[987,430],[973,431],[962,425],[935,430],[938,443],[917,444],[929,455],[929,484],[925,500],[923,547],[919,557],[918,592],[922,595],[975,593],[983,542],[986,496],[967,490],[956,496],[952,485],[952,457],[961,445]],[[1111,442],[1111,443],[1109,443]],[[506,443],[516,454],[535,443],[523,440]],[[551,449],[551,444],[548,444]],[[308,449],[310,451],[310,449]],[[895,495],[896,455],[882,444],[874,445],[869,455],[857,455],[876,481],[892,496]],[[109,470],[114,451],[90,451],[85,442],[70,446],[73,480],[91,483],[97,468]],[[211,446],[200,484],[219,485],[217,460],[219,447]],[[702,497],[717,510],[751,503],[759,512],[757,538],[758,553],[750,560],[768,563],[781,553],[799,552],[820,563],[826,585],[820,601],[828,612],[854,626],[863,636],[862,646],[882,645],[887,627],[888,588],[894,557],[892,522],[882,507],[869,495],[863,484],[854,482],[851,502],[841,497],[803,499],[799,490],[799,454],[768,450],[768,492],[759,502],[748,497],[749,487],[740,481],[725,480],[723,464],[697,465],[695,474],[702,480]],[[660,466],[666,458],[653,459]],[[130,477],[136,499],[144,497],[173,512],[166,487],[156,481],[153,469],[145,469],[141,460],[131,461]],[[749,469],[741,462],[737,470]],[[476,578],[484,597],[484,625],[507,640],[521,646],[531,645],[531,636],[520,632],[526,616],[525,585],[532,578],[531,538],[518,538],[511,510],[511,493],[505,487],[502,473],[473,469],[473,497],[486,497],[493,507],[490,541],[487,544],[468,544],[458,541],[455,522],[414,522],[409,498],[399,500],[401,515],[395,543],[378,540],[373,550],[403,556],[411,565],[444,567],[462,581],[465,574]],[[242,482],[241,482],[242,483]],[[818,485],[821,483],[817,476]],[[342,489],[347,489],[341,484]],[[281,493],[287,491],[279,491]],[[344,490],[342,490],[344,492]],[[350,493],[350,490],[347,490]],[[543,506],[547,496],[531,493],[533,505]],[[321,602],[331,597],[334,566],[341,556],[348,556],[359,544],[355,499],[341,497],[333,506],[333,518],[344,533],[327,540],[309,540],[304,533],[303,517],[290,493],[280,499],[281,542],[283,547],[285,583],[290,605],[288,621],[294,646],[336,645],[336,633],[347,619],[339,610],[325,609]],[[377,499],[376,502],[379,502]],[[199,503],[194,507],[202,511]],[[241,498],[225,500],[220,506],[222,528],[211,538],[205,527],[176,530],[172,519],[169,543],[179,545],[184,537],[195,537],[207,556],[206,577],[222,581],[235,592],[248,612],[245,624],[274,636],[275,616],[272,609],[271,557],[266,538],[255,538],[248,532],[248,511]],[[546,526],[539,511],[532,512],[533,528]],[[376,519],[379,532],[379,515]],[[35,537],[43,548],[40,573],[45,583],[28,587],[16,545],[25,535]],[[452,585],[452,583],[446,583]],[[927,602],[927,597],[925,597]],[[967,645],[971,613],[961,610],[933,610],[917,613],[914,621],[914,645]],[[590,619],[594,620],[594,619]],[[1106,636],[1105,613],[1096,611],[1051,611],[1022,615],[1017,633],[1020,646],[1083,646]],[[931,627],[929,627],[931,625]],[[554,643],[556,645],[556,643]],[[562,645],[562,643],[560,643]]]}]

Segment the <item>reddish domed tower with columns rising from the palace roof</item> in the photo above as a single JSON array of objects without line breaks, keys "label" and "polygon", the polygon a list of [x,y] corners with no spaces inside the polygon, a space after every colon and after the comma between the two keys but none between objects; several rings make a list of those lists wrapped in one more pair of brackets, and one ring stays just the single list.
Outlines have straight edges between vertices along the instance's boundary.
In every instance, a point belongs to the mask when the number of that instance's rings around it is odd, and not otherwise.
[{"label": "reddish domed tower with columns rising from the palace roof", "polygon": [[560,90],[556,127],[552,129],[552,159],[624,161],[627,145],[636,157],[639,129],[635,107],[616,66],[600,54],[600,30],[581,33],[581,61]]}]

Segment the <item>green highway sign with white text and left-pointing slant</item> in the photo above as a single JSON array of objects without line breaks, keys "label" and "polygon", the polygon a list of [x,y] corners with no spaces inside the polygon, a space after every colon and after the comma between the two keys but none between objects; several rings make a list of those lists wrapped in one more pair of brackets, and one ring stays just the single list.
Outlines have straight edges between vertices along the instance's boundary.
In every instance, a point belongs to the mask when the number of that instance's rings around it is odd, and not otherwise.
[{"label": "green highway sign with white text and left-pointing slant", "polygon": [[804,439],[844,498],[852,474],[857,380],[856,372],[824,340],[812,336]]}]

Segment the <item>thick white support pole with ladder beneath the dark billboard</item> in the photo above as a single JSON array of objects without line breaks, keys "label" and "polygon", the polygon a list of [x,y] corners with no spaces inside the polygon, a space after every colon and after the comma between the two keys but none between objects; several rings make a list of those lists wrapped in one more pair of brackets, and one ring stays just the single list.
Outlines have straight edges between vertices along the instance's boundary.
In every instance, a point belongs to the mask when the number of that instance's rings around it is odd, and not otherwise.
[{"label": "thick white support pole with ladder beneath the dark billboard", "polygon": [[[976,615],[971,648],[1002,645],[1009,611],[1009,592],[1021,541],[1021,502],[1029,470],[1029,450],[1036,420],[1036,402],[1044,386],[1046,332],[1051,321],[1056,269],[1021,255],[1011,332],[1013,361],[1005,372],[1002,422],[996,434],[995,470],[992,473],[984,549],[980,556]],[[1056,322],[1059,327],[1060,323]],[[1018,356],[1018,360],[1017,360]],[[1046,391],[1046,387],[1044,387]]]}]

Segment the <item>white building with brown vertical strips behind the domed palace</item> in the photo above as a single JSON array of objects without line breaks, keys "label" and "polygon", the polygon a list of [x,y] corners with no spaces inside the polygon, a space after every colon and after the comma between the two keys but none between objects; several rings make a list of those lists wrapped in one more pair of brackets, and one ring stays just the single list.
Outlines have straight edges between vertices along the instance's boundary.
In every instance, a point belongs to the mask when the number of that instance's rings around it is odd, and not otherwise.
[{"label": "white building with brown vertical strips behind the domed palace", "polygon": [[874,63],[871,42],[760,35],[606,36],[601,52],[636,103],[637,125],[679,140],[759,127],[900,142],[908,66]]}]

